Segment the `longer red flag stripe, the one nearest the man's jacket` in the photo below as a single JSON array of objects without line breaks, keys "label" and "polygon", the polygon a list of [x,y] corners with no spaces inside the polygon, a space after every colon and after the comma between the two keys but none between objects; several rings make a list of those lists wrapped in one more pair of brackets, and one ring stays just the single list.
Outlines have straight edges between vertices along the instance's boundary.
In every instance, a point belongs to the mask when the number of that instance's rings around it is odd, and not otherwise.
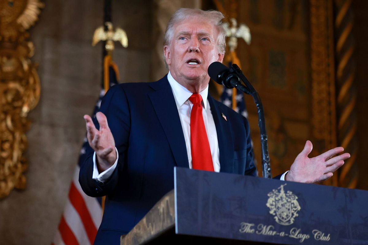
[{"label": "longer red flag stripe, the one nearest the man's jacket", "polygon": [[75,187],[74,182],[72,182],[70,186],[69,200],[74,206],[75,210],[78,212],[79,217],[81,218],[84,225],[84,229],[88,235],[89,241],[91,242],[91,244],[93,244],[93,241],[95,240],[97,234],[97,229],[91,215],[88,212],[88,208],[84,202],[84,199]]}]

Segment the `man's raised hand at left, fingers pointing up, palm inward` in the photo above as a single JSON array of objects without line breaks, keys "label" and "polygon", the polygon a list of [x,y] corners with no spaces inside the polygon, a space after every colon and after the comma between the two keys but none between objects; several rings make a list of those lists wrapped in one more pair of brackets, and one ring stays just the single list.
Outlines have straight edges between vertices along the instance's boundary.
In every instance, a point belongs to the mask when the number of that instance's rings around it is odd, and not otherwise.
[{"label": "man's raised hand at left, fingers pointing up, palm inward", "polygon": [[96,129],[90,116],[84,115],[88,143],[96,152],[97,169],[101,173],[114,164],[117,156],[114,137],[107,125],[106,116],[102,112],[97,112],[96,118],[100,124],[100,130]]}]

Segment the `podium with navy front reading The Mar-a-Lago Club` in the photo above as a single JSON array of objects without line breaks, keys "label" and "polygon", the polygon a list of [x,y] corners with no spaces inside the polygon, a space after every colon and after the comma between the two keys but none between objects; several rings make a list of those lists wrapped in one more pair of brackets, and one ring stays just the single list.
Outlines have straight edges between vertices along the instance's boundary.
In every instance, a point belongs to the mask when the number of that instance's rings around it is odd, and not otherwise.
[{"label": "podium with navy front reading The Mar-a-Lago Club", "polygon": [[174,181],[121,245],[368,244],[368,191],[180,167]]}]

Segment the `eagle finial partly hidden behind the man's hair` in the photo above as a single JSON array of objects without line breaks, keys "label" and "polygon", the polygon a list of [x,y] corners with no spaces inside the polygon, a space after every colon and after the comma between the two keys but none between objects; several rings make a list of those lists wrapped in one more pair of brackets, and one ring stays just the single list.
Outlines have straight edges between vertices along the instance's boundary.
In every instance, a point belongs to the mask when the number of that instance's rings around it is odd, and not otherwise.
[{"label": "eagle finial partly hidden behind the man's hair", "polygon": [[229,37],[227,41],[227,45],[229,46],[230,51],[234,51],[238,46],[238,38],[243,38],[244,41],[249,45],[251,43],[251,32],[247,25],[240,24],[237,27],[237,21],[235,18],[231,18],[231,27],[229,22],[225,22],[223,25],[225,29],[225,34]]}]

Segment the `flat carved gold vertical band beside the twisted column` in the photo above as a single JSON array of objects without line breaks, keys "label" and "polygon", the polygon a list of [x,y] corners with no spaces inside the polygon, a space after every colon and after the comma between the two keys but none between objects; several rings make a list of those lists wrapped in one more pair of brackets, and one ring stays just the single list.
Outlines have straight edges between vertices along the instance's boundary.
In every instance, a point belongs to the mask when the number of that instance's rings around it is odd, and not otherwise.
[{"label": "flat carved gold vertical band beside the twisted column", "polygon": [[[320,152],[336,147],[332,0],[310,0],[312,136]],[[337,185],[333,176],[324,184]]]}]

